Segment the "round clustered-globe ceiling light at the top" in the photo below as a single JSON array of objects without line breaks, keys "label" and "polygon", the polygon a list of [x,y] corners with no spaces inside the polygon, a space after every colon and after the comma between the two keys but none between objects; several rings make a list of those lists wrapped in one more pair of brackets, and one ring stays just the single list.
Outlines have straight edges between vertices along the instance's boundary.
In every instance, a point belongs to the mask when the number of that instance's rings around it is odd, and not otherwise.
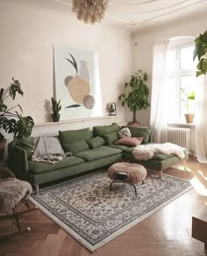
[{"label": "round clustered-globe ceiling light at the top", "polygon": [[101,21],[105,16],[108,0],[72,0],[72,11],[85,23]]}]

